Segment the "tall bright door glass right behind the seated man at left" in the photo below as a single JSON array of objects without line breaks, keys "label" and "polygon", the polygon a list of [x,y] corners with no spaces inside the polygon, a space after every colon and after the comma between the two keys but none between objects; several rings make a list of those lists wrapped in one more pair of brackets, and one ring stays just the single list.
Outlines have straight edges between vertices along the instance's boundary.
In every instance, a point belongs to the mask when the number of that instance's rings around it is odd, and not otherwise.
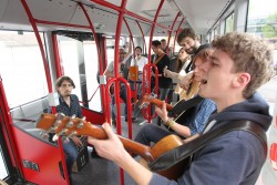
[{"label": "tall bright door glass right behind the seated man at left", "polygon": [[[102,99],[100,99],[99,84],[95,76],[99,71],[95,41],[79,41],[64,35],[58,35],[58,40],[64,75],[71,76],[75,83],[73,93],[79,96],[79,100],[83,102],[85,107],[101,112]],[[96,90],[98,92],[92,97]],[[89,102],[91,97],[92,100]]]}]

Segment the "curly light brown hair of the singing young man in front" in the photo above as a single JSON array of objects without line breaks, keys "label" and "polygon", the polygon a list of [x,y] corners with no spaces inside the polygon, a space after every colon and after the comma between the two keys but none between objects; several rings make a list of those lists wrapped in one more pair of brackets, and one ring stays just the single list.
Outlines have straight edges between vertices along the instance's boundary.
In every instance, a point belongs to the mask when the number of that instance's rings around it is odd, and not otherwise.
[{"label": "curly light brown hair of the singing young man in front", "polygon": [[269,44],[248,33],[232,32],[215,39],[214,49],[226,52],[234,61],[233,72],[250,74],[250,81],[243,92],[249,97],[273,76],[273,50]]}]

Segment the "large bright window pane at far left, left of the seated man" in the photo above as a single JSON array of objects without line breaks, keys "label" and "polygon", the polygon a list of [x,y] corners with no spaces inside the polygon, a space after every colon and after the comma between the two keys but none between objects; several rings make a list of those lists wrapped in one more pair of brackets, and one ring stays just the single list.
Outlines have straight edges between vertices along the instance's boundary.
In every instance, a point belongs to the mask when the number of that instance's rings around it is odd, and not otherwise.
[{"label": "large bright window pane at far left, left of the seated man", "polygon": [[[43,38],[43,34],[40,37]],[[41,52],[33,32],[0,31],[0,75],[10,107],[49,93]]]}]

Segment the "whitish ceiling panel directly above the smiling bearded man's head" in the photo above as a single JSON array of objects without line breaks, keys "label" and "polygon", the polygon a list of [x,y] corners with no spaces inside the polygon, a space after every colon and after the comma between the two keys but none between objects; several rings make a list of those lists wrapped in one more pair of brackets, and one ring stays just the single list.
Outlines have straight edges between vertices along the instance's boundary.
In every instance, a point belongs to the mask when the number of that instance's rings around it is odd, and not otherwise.
[{"label": "whitish ceiling panel directly above the smiling bearded man's head", "polygon": [[174,0],[191,27],[205,34],[233,0]]}]

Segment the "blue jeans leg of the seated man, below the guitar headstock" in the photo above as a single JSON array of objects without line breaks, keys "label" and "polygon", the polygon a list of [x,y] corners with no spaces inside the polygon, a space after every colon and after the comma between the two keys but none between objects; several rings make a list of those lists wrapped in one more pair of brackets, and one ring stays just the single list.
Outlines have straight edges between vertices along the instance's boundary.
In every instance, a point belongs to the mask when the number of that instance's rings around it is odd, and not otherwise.
[{"label": "blue jeans leg of the seated man, below the guitar headstock", "polygon": [[72,140],[70,140],[68,143],[62,142],[62,146],[65,153],[68,174],[69,174],[69,177],[71,177],[72,166],[73,166],[74,161],[78,157],[78,151]]}]

